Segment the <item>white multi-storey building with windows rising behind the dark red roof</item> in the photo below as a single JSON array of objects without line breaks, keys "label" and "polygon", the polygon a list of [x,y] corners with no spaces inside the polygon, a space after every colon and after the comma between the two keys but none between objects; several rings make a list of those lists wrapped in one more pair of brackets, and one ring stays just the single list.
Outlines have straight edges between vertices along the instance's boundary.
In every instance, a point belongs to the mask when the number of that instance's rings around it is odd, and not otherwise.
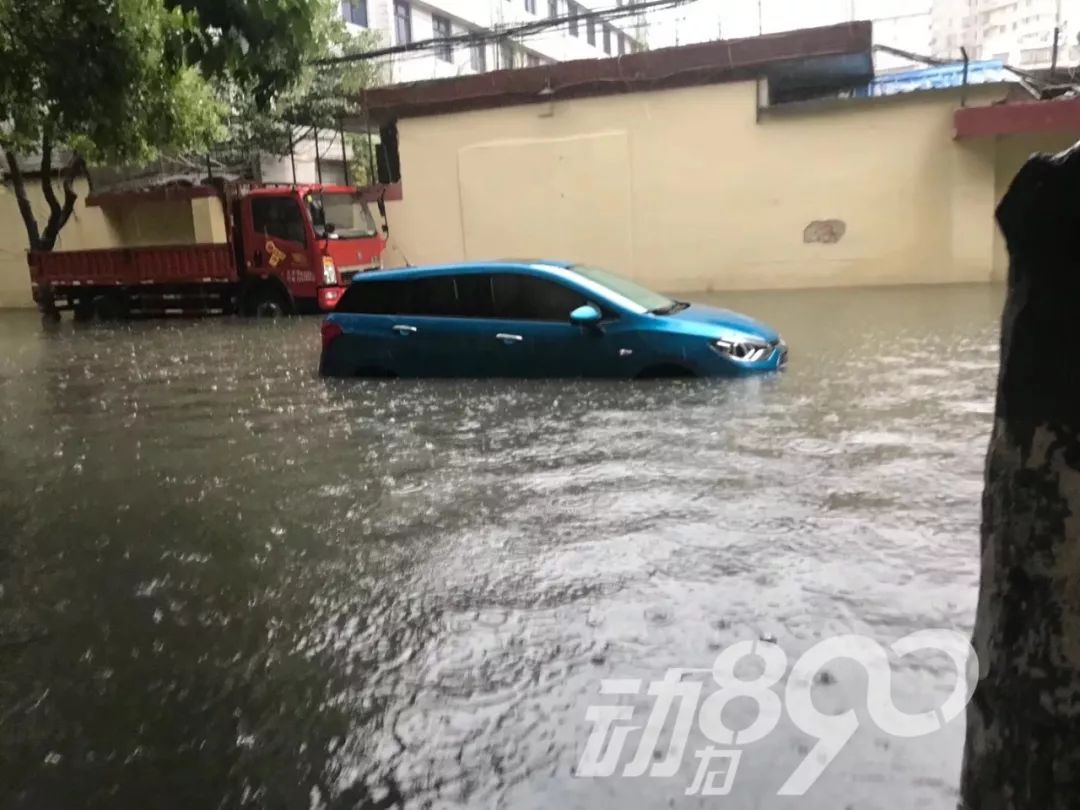
[{"label": "white multi-storey building with windows rising behind the dark red roof", "polygon": [[[629,0],[341,0],[341,14],[350,26],[379,31],[388,48],[470,35],[487,38],[386,57],[386,80],[397,83],[637,52],[645,48],[642,15],[588,16],[630,4]],[[545,21],[553,24],[537,32],[497,40],[489,36]]]}]

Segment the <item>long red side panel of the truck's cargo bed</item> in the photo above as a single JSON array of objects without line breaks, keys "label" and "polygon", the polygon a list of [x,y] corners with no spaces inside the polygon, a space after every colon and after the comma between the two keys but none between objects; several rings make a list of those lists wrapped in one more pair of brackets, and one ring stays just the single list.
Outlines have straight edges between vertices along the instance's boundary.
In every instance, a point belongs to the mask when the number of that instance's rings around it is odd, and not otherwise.
[{"label": "long red side panel of the truck's cargo bed", "polygon": [[54,287],[205,284],[238,279],[230,244],[31,253],[29,264],[35,284]]}]

